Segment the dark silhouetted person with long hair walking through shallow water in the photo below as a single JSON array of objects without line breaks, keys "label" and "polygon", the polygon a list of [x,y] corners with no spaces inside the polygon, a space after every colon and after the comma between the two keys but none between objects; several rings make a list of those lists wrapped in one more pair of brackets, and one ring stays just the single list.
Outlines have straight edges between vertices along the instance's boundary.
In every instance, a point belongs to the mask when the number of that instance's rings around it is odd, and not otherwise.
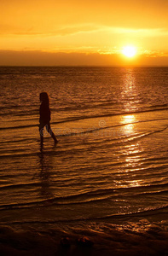
[{"label": "dark silhouetted person with long hair walking through shallow water", "polygon": [[41,145],[43,146],[43,128],[45,127],[46,130],[49,132],[50,136],[54,139],[55,143],[58,143],[55,134],[51,130],[50,127],[50,108],[49,108],[49,96],[47,92],[40,93],[40,119],[39,119],[39,132],[40,132],[40,141]]}]

